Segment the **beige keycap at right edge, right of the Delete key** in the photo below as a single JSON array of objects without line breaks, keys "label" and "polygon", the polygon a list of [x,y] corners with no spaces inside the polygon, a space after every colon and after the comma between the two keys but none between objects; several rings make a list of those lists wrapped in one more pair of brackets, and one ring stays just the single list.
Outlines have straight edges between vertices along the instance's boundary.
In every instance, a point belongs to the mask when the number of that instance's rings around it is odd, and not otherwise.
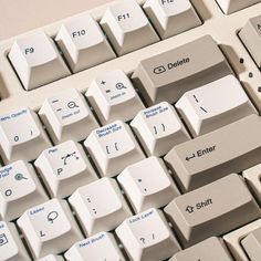
[{"label": "beige keycap at right edge, right of the Delete key", "polygon": [[243,44],[259,67],[261,67],[261,54],[259,52],[261,45],[260,24],[261,15],[251,18],[239,32],[240,39],[243,41]]}]

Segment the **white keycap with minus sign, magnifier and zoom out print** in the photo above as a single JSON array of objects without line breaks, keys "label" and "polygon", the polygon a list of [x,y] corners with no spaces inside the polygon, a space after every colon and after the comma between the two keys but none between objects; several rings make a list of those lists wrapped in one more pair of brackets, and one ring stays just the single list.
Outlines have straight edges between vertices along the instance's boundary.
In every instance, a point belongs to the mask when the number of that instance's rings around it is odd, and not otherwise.
[{"label": "white keycap with minus sign, magnifier and zoom out print", "polygon": [[83,140],[98,127],[84,97],[74,88],[48,98],[39,115],[55,144],[67,139]]}]

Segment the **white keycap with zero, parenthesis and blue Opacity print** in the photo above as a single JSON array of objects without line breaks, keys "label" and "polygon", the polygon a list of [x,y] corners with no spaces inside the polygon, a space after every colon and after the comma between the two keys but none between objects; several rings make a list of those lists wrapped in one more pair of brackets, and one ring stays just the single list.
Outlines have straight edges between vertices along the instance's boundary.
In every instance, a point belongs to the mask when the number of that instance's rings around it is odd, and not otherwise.
[{"label": "white keycap with zero, parenthesis and blue Opacity print", "polygon": [[36,114],[27,107],[0,115],[0,155],[6,164],[30,161],[51,146]]}]

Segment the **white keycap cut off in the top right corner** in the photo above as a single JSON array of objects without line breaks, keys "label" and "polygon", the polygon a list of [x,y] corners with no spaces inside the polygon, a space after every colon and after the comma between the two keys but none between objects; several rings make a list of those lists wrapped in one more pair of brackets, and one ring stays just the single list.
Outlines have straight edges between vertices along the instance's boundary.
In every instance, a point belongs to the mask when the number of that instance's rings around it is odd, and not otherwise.
[{"label": "white keycap cut off in the top right corner", "polygon": [[226,14],[230,14],[258,3],[260,0],[217,0],[217,2]]}]

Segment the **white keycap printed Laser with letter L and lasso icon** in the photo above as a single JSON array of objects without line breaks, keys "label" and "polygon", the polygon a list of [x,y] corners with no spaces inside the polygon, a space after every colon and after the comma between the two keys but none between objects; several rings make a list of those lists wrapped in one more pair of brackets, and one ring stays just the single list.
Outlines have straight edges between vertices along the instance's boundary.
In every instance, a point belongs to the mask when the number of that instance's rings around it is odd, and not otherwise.
[{"label": "white keycap printed Laser with letter L and lasso icon", "polygon": [[83,238],[64,200],[52,199],[27,210],[18,226],[34,259],[61,253]]}]

